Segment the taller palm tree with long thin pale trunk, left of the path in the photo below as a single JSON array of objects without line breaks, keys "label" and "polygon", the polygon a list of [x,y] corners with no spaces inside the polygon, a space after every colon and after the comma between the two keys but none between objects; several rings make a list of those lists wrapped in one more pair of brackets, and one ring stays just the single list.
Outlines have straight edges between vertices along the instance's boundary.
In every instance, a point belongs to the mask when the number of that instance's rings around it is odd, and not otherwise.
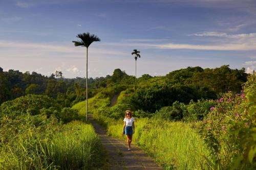
[{"label": "taller palm tree with long thin pale trunk, left of the path", "polygon": [[76,36],[77,38],[80,38],[79,41],[72,41],[74,42],[75,46],[85,46],[86,47],[86,121],[87,121],[87,115],[88,115],[88,47],[91,43],[94,41],[100,41],[99,37],[97,37],[94,34],[82,33],[78,34]]}]

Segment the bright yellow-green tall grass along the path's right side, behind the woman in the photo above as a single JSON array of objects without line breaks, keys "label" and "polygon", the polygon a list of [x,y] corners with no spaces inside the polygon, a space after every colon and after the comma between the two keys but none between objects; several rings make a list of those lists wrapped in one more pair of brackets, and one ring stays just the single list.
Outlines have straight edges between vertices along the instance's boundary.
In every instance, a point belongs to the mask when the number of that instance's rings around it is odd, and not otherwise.
[{"label": "bright yellow-green tall grass along the path's right side, behind the woman", "polygon": [[[94,115],[108,127],[108,134],[126,139],[121,134],[123,121]],[[209,152],[203,140],[182,122],[165,122],[149,118],[135,118],[133,142],[150,154],[165,169],[207,169],[203,157]]]}]

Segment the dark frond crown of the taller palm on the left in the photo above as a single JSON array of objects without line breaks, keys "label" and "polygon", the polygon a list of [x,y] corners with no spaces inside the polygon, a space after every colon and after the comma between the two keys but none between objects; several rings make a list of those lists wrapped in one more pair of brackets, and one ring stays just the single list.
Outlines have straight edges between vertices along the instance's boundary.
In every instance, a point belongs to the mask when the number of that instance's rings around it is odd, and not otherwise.
[{"label": "dark frond crown of the taller palm on the left", "polygon": [[78,34],[76,37],[80,38],[81,40],[72,41],[74,42],[75,46],[86,46],[88,48],[94,41],[100,41],[99,37],[94,34],[90,34],[89,32]]}]

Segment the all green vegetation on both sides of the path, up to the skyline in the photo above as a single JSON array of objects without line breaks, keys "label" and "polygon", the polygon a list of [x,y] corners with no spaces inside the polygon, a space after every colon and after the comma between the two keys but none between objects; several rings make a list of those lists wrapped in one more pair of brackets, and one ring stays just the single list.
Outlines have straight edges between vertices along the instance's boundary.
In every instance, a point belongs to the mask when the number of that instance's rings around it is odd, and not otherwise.
[{"label": "all green vegetation on both sides of the path, up to the skyline", "polygon": [[[85,79],[60,73],[0,71],[0,168],[99,166],[99,139],[78,121],[86,112]],[[165,169],[253,169],[255,74],[246,81],[244,68],[228,65],[143,75],[136,83],[115,69],[112,76],[89,79],[89,113],[110,135],[123,137],[124,111],[132,110],[134,142]]]}]

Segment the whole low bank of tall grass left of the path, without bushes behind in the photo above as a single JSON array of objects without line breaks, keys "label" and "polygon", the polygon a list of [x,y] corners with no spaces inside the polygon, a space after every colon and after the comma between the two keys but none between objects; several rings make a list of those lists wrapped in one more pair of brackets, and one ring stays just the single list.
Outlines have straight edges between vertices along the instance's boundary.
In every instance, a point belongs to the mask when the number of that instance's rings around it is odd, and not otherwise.
[{"label": "whole low bank of tall grass left of the path, without bushes behind", "polygon": [[1,135],[6,134],[0,138],[0,169],[94,169],[101,166],[101,144],[91,125],[79,121],[58,126],[51,123],[38,127],[21,124],[16,128],[14,124],[2,124],[2,128],[8,126],[6,130],[11,134],[0,131]]}]

